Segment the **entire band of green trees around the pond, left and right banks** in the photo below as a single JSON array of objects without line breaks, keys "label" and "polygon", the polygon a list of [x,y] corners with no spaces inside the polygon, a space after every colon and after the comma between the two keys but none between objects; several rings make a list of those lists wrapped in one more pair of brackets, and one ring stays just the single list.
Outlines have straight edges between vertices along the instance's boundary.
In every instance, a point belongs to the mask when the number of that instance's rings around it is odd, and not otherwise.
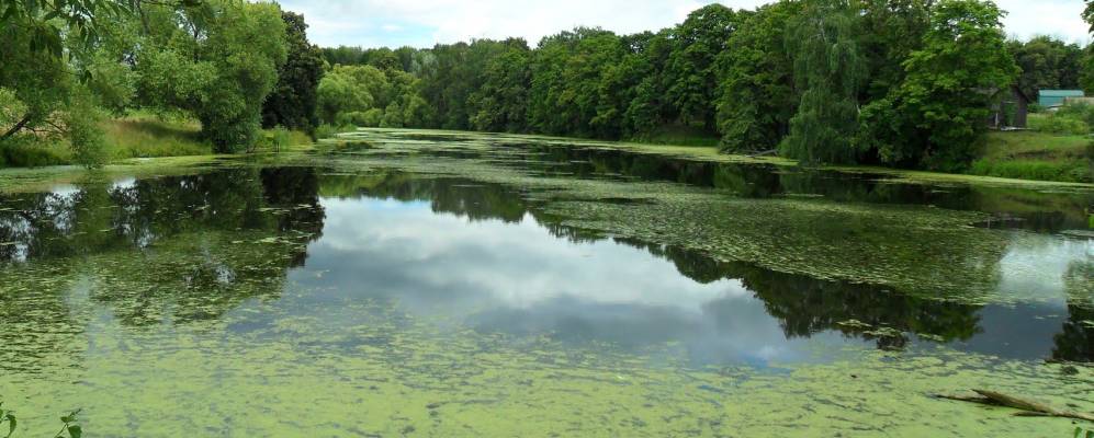
[{"label": "entire band of green trees around the pond, left and right banks", "polygon": [[[986,0],[710,4],[631,35],[416,49],[318,48],[304,18],[245,0],[0,0],[0,143],[65,138],[129,108],[199,119],[217,151],[260,126],[384,126],[652,140],[718,138],[805,163],[959,171],[1017,85],[1094,89],[1087,50],[1008,42]],[[1087,13],[1084,18],[1094,18]]]}]

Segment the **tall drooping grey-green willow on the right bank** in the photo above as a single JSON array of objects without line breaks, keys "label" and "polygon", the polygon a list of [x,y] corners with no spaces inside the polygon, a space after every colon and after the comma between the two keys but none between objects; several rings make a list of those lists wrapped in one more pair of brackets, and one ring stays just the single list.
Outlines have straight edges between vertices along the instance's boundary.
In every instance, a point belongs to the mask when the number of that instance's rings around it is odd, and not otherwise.
[{"label": "tall drooping grey-green willow on the right bank", "polygon": [[790,22],[787,48],[801,101],[779,147],[785,157],[807,163],[855,161],[858,91],[867,72],[855,19],[847,0],[813,0]]}]

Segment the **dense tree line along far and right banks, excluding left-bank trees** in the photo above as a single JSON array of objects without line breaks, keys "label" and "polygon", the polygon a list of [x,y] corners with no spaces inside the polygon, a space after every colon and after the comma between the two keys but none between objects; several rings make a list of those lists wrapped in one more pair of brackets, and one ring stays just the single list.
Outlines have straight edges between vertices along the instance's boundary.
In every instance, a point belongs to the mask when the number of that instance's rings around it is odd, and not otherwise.
[{"label": "dense tree line along far and right banks, excluding left-bank trees", "polygon": [[[324,48],[336,70],[372,78],[358,90],[409,73],[424,102],[369,106],[331,84],[320,106],[331,124],[635,140],[685,131],[730,152],[958,171],[1012,85],[1036,95],[1094,82],[1083,48],[1008,42],[1004,14],[979,0],[715,3],[658,32],[578,27],[535,47],[510,38]],[[357,105],[343,111],[347,101]]]}]

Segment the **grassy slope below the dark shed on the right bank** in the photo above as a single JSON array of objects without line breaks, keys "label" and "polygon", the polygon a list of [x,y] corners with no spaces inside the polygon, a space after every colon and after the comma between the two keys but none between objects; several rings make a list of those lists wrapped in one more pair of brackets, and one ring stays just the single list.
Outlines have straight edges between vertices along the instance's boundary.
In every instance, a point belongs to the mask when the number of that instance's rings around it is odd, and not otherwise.
[{"label": "grassy slope below the dark shed on the right bank", "polygon": [[990,132],[974,175],[1091,183],[1094,146],[1086,136],[1035,131]]}]

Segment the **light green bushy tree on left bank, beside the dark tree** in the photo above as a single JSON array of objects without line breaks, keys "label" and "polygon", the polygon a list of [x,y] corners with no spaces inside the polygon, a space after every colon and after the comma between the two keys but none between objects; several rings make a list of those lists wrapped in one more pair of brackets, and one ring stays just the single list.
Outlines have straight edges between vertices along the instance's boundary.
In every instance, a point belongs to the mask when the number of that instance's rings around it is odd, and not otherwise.
[{"label": "light green bushy tree on left bank, beside the dark tree", "polygon": [[151,8],[149,35],[137,54],[145,104],[192,112],[218,152],[251,146],[286,57],[277,4],[219,0],[178,11]]}]

